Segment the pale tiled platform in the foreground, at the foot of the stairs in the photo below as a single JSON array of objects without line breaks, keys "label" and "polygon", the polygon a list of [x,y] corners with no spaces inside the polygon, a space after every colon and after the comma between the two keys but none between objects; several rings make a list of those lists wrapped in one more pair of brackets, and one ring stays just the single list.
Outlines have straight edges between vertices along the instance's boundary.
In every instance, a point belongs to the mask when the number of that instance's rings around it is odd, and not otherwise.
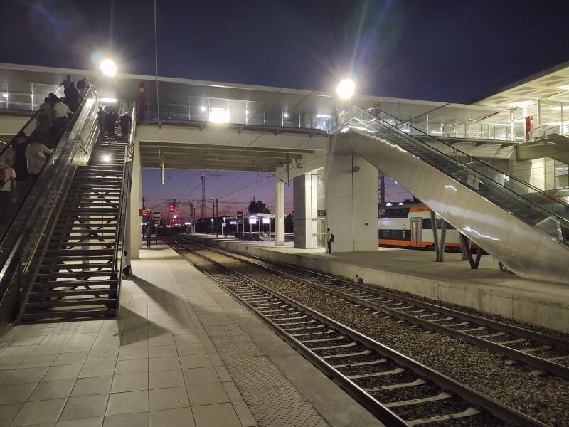
[{"label": "pale tiled platform in the foreground, at the foot of the stairs", "polygon": [[164,243],[121,307],[0,334],[0,427],[382,426]]}]

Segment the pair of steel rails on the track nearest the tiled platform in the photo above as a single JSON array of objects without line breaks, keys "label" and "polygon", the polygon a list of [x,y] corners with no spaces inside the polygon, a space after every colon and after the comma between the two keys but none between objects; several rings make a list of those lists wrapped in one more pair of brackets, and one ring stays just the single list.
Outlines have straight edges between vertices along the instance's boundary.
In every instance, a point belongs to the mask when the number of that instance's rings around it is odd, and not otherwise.
[{"label": "pair of steel rails on the track nearest the tiled platform", "polygon": [[[164,239],[164,240],[166,243],[169,243],[168,242],[169,239]],[[174,239],[170,239],[170,241],[174,241]],[[188,249],[187,246],[184,246],[184,244],[181,244],[176,241],[174,242],[179,246],[186,248],[186,250],[191,251],[194,255],[198,255],[198,257],[203,258],[210,263],[213,263],[213,265],[216,265],[218,268],[221,268],[222,270],[225,270],[228,273],[237,276],[238,278],[241,278],[243,280],[248,281],[249,283],[252,283],[257,288],[260,288],[261,290],[264,290],[268,294],[277,297],[278,299],[286,302],[288,305],[297,308],[297,310],[307,313],[309,316],[319,320],[319,322],[328,325],[329,327],[331,327],[331,329],[337,330],[341,332],[341,334],[352,339],[354,342],[363,345],[363,347],[372,349],[374,352],[381,354],[382,356],[387,357],[388,359],[393,360],[393,362],[395,362],[396,364],[408,368],[410,371],[413,371],[416,375],[429,379],[434,384],[437,384],[437,386],[440,386],[442,389],[454,392],[454,394],[457,394],[462,399],[464,399],[464,401],[467,401],[469,404],[484,408],[484,410],[493,414],[494,416],[496,416],[496,418],[499,418],[502,421],[506,421],[508,423],[516,423],[520,426],[546,426],[546,424],[541,423],[541,421],[538,421],[534,418],[531,418],[530,416],[527,416],[524,413],[516,411],[514,408],[506,406],[501,402],[491,398],[490,396],[486,396],[480,393],[479,391],[472,389],[469,386],[462,384],[461,382],[456,381],[450,378],[449,376],[446,376],[445,374],[440,373],[439,371],[435,371],[435,369],[432,369],[424,364],[416,362],[415,360],[410,359],[410,357],[405,356],[405,354],[397,352],[394,349],[385,346],[384,344],[381,344],[369,337],[366,337],[360,332],[357,332],[356,330],[353,330],[350,327],[347,327],[346,325],[342,325],[341,323],[336,322],[330,317],[327,317],[326,315],[323,315],[315,310],[312,310],[311,308],[307,307],[306,305],[303,305],[300,302],[297,302],[296,300],[292,300],[291,298],[282,295],[280,292],[272,290],[268,286],[263,285],[260,282],[257,282],[257,280],[249,278],[248,276],[243,275],[238,271],[228,268],[225,265],[222,265],[217,261],[208,258],[206,255],[203,255],[201,253],[196,253],[195,250]],[[174,248],[174,246],[172,246],[170,243],[169,245],[172,248]],[[174,248],[174,250],[177,251],[176,248]],[[299,340],[292,337],[279,325],[276,325],[274,322],[271,322],[270,319],[265,317],[265,315],[262,315],[262,313],[259,310],[256,310],[255,307],[252,307],[247,302],[245,302],[245,300],[239,297],[235,292],[233,292],[233,290],[230,290],[225,285],[221,284],[219,280],[213,278],[213,276],[203,271],[203,269],[199,268],[197,265],[196,268],[201,270],[202,273],[206,273],[208,277],[212,278],[225,290],[228,290],[228,292],[230,292],[231,295],[237,297],[238,300],[240,300],[240,302],[242,302],[246,307],[255,312],[255,314],[257,314],[265,323],[267,323],[267,325],[269,325],[272,330],[275,330],[275,332],[277,332],[277,334],[280,337],[282,337],[282,339],[285,339],[287,343],[291,344],[292,347],[297,349],[297,351],[303,354],[303,356],[307,357],[307,359],[309,359],[313,364],[315,364],[315,366],[319,367],[319,369],[324,371],[324,373],[331,376],[331,378],[337,384],[342,386],[346,390],[346,392],[348,392],[354,399],[360,402],[363,406],[368,408],[368,410],[371,411],[374,415],[378,416],[378,418],[381,421],[387,423],[388,426],[409,425],[408,423],[405,423],[405,421],[403,421],[402,418],[393,413],[393,411],[390,411],[388,407],[381,404],[366,391],[363,391],[361,387],[353,383],[353,381],[344,376],[344,374],[341,374],[341,372],[339,372],[337,369],[331,367],[327,362],[325,362],[324,359],[317,356],[317,354],[314,354],[314,352],[312,352],[308,347],[304,346],[302,342],[299,342]],[[385,416],[388,418],[381,418]]]}]

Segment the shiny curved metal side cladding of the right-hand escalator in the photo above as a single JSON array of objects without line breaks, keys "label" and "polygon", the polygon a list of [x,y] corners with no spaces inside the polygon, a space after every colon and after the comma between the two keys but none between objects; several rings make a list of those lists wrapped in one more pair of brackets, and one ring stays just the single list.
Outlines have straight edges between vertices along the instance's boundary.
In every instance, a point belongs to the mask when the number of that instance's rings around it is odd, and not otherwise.
[{"label": "shiny curved metal side cladding of the right-hand escalator", "polygon": [[333,138],[332,147],[366,158],[521,277],[569,283],[569,249],[553,238],[385,138]]}]

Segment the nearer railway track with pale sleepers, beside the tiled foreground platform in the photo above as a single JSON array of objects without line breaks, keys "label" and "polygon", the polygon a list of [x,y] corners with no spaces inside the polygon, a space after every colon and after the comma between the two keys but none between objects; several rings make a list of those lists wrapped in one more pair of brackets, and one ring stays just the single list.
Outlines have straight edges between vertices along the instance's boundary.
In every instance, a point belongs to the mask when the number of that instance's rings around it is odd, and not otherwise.
[{"label": "nearer railway track with pale sleepers, beside the tiled foreground platform", "polygon": [[165,241],[388,426],[545,426],[215,259],[225,254]]}]

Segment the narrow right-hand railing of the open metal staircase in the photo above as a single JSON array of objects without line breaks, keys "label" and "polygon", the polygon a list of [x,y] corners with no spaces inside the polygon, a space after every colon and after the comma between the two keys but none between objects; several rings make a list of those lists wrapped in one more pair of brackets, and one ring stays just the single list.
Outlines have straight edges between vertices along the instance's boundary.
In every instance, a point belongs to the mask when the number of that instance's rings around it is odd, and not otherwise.
[{"label": "narrow right-hand railing of the open metal staircase", "polygon": [[[117,217],[117,234],[115,235],[115,258],[113,265],[113,278],[117,280],[117,317],[120,315],[120,291],[122,285],[122,273],[126,266],[126,260],[130,259],[125,240],[129,237],[127,216],[129,214],[130,187],[132,183],[132,162],[134,159],[134,138],[137,132],[137,111],[132,109],[132,123],[129,132],[127,147],[124,147],[124,164],[122,167],[122,186],[119,198],[119,214]],[[132,224],[133,226],[136,224]]]}]

